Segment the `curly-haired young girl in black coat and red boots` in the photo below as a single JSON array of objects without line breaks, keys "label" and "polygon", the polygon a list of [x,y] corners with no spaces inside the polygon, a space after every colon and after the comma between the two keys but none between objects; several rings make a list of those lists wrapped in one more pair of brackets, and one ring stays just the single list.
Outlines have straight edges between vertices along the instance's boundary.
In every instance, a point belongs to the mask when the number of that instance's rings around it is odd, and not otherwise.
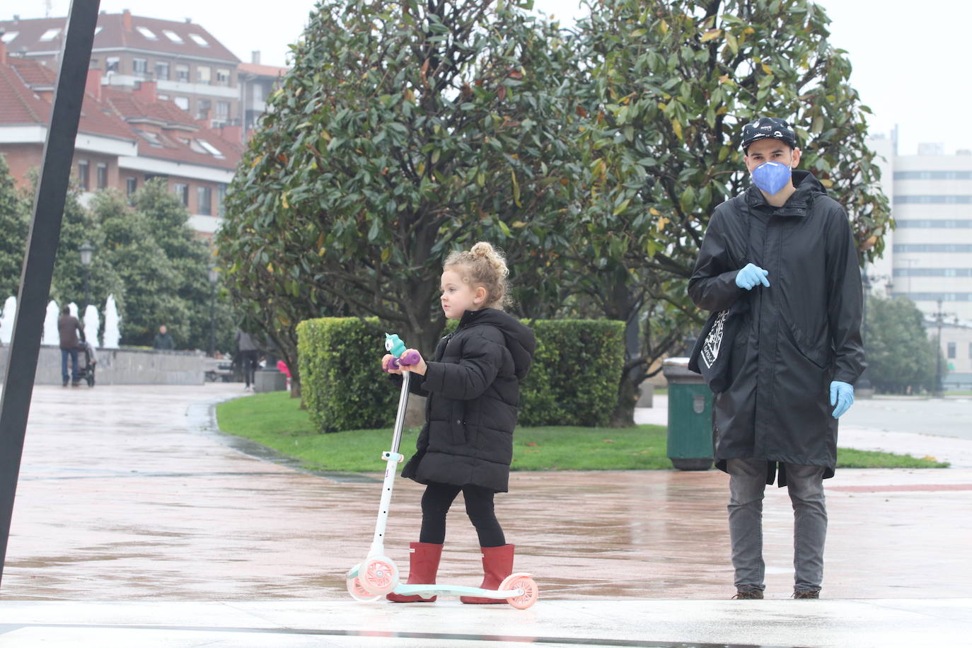
[{"label": "curly-haired young girl in black coat and red boots", "polygon": [[[513,455],[513,427],[520,401],[520,381],[533,360],[534,333],[502,310],[506,262],[489,243],[456,252],[442,269],[442,311],[459,326],[439,341],[434,361],[410,366],[410,385],[428,396],[426,425],[418,452],[402,477],[426,485],[422,496],[422,531],[410,545],[408,584],[434,584],[445,541],[445,516],[463,493],[466,512],[479,535],[483,582],[496,590],[513,571],[513,545],[493,513],[493,495],[505,493]],[[382,358],[389,367],[391,355]],[[435,597],[388,599],[397,603],[431,602]],[[499,598],[461,597],[464,603],[503,603]]]}]

